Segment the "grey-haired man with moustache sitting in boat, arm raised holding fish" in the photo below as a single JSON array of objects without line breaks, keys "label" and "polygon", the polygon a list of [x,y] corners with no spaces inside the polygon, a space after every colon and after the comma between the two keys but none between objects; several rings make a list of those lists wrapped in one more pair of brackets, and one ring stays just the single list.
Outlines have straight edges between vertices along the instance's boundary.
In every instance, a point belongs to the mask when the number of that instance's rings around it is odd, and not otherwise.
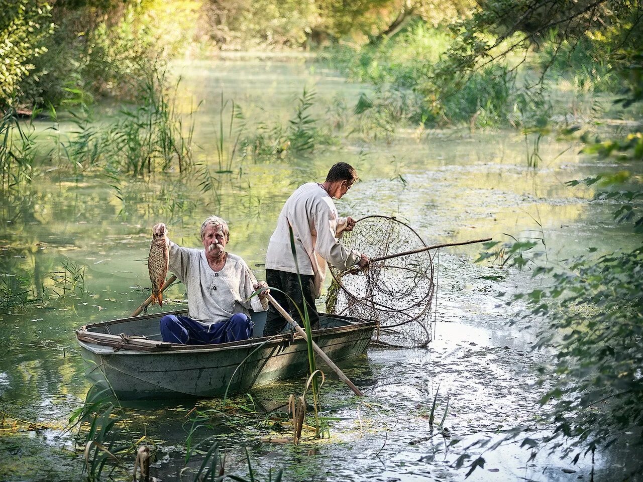
[{"label": "grey-haired man with moustache sitting in boat, arm raised holding fish", "polygon": [[224,251],[230,240],[228,224],[216,216],[204,220],[204,249],[181,247],[170,241],[163,223],[154,225],[152,231],[155,239],[165,238],[169,269],[183,281],[188,293],[190,316],[161,318],[163,341],[214,344],[250,338],[253,323],[249,310],[268,308],[267,291],[251,295],[259,288],[267,288],[267,284],[257,282],[240,256]]}]

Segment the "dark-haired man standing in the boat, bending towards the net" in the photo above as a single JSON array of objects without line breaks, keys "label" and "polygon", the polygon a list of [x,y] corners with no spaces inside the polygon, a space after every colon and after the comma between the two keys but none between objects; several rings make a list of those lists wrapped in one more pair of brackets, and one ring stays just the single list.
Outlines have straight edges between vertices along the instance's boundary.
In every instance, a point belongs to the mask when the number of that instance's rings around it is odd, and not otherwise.
[{"label": "dark-haired man standing in the boat, bending towards the net", "polygon": [[[299,186],[285,202],[268,244],[266,281],[270,287],[282,290],[288,295],[275,290],[273,296],[280,305],[288,308],[293,318],[302,326],[299,312],[303,314],[305,301],[313,330],[320,327],[315,298],[319,298],[321,284],[326,277],[326,262],[337,269],[347,269],[354,265],[362,268],[368,266],[365,254],[350,250],[341,244],[341,233],[352,231],[355,221],[351,217],[338,217],[337,209],[332,202],[333,198],[341,199],[356,181],[358,174],[352,166],[337,163],[329,170],[325,183],[306,183]],[[288,226],[293,229],[297,263],[293,259]],[[302,278],[303,292],[297,278],[297,266]],[[264,336],[281,332],[285,324],[285,319],[271,305],[268,308]]]}]

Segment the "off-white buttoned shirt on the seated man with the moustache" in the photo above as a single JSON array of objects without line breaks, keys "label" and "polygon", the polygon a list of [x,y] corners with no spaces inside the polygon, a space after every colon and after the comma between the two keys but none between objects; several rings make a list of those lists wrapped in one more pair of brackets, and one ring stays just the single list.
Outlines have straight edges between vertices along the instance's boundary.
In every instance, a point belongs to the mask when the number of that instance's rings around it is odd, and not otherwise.
[{"label": "off-white buttoned shirt on the seated man with the moustache", "polygon": [[249,315],[248,310],[267,310],[266,298],[259,300],[253,296],[248,300],[255,292],[253,285],[257,280],[240,256],[228,253],[221,271],[213,271],[204,249],[169,243],[169,269],[185,284],[190,318],[209,326],[237,313]]}]

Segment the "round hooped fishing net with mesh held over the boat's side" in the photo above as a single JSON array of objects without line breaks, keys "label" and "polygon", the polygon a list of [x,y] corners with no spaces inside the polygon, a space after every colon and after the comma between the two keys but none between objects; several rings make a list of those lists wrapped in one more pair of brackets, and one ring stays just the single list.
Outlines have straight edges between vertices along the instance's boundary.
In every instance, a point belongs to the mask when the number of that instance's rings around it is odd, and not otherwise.
[{"label": "round hooped fishing net with mesh held over the boat's side", "polygon": [[[345,232],[342,244],[371,259],[426,247],[408,224],[395,217],[368,216]],[[376,342],[390,346],[426,346],[431,341],[433,283],[431,251],[372,262],[368,269],[331,267],[326,298],[331,314],[377,322]]]}]

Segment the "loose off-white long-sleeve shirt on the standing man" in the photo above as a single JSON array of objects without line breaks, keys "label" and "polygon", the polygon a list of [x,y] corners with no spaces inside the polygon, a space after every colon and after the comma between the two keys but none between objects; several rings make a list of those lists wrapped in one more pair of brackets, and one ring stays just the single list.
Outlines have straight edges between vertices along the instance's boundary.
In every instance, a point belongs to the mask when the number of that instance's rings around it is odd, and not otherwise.
[{"label": "loose off-white long-sleeve shirt on the standing man", "polygon": [[284,204],[266,251],[266,269],[297,272],[290,245],[288,223],[293,228],[300,274],[313,274],[315,296],[320,296],[326,261],[337,269],[359,263],[361,253],[341,244],[346,218],[337,215],[331,196],[318,183],[299,186]]}]

